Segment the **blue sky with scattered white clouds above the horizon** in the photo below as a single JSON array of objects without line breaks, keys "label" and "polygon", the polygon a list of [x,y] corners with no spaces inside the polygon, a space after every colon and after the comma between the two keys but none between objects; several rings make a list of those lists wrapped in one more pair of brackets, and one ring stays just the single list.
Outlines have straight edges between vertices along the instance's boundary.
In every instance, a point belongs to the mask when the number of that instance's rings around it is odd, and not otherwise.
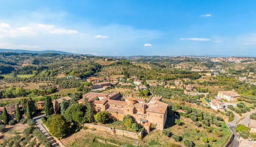
[{"label": "blue sky with scattered white clouds above the horizon", "polygon": [[0,48],[256,56],[256,1],[2,1]]}]

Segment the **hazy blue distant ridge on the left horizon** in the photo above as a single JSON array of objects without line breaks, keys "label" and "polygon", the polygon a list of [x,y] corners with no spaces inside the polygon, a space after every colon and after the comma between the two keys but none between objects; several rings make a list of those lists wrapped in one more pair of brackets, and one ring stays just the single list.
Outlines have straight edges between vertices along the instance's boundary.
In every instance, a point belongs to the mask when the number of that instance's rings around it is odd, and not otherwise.
[{"label": "hazy blue distant ridge on the left horizon", "polygon": [[[14,52],[14,53],[59,53],[59,54],[68,54],[68,55],[81,55],[78,53],[68,53],[62,51],[53,51],[53,50],[46,50],[46,51],[28,51],[28,50],[12,50],[12,49],[0,49],[0,52]],[[95,56],[92,54],[83,54],[87,56]]]}]

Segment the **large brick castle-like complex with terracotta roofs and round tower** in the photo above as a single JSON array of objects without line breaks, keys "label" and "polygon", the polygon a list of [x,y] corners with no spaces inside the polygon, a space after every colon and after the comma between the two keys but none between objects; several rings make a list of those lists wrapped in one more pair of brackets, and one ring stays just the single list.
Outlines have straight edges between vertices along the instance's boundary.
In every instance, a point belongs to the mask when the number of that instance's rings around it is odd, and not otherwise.
[{"label": "large brick castle-like complex with terracotta roofs and round tower", "polygon": [[[125,115],[129,114],[137,123],[154,123],[156,129],[164,129],[168,105],[161,102],[162,97],[151,96],[148,99],[143,99],[131,94],[130,96],[123,96],[125,101],[118,100],[120,97],[120,92],[109,94],[87,93],[83,95],[83,99],[78,100],[78,103],[85,100],[90,101],[97,112],[108,111],[111,119],[115,117],[122,120]],[[116,112],[118,112],[118,115]]]}]

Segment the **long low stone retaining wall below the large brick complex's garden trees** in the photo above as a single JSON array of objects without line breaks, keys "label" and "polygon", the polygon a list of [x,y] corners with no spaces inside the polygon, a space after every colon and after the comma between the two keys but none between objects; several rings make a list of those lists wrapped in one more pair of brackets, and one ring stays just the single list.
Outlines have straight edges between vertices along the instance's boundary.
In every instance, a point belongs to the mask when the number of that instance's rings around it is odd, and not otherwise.
[{"label": "long low stone retaining wall below the large brick complex's garden trees", "polygon": [[131,137],[134,139],[141,139],[143,136],[143,132],[144,132],[144,128],[139,133],[134,133],[134,132],[129,132],[129,131],[120,130],[120,129],[114,129],[114,128],[108,128],[108,127],[90,124],[90,123],[84,123],[84,126],[88,127],[89,129],[95,128],[97,130],[109,132],[110,134],[122,135],[122,136],[126,136],[126,137]]}]

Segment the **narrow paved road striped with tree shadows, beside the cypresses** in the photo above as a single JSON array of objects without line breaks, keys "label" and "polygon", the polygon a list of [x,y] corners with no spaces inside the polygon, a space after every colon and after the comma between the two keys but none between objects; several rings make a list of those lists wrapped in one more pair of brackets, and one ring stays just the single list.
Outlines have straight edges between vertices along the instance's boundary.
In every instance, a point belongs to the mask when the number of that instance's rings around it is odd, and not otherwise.
[{"label": "narrow paved road striped with tree shadows, beside the cypresses", "polygon": [[44,133],[44,135],[50,140],[51,146],[52,147],[60,147],[50,136],[50,134],[44,129],[43,125],[42,125],[42,120],[41,118],[44,116],[43,115],[39,115],[33,118],[33,120],[35,121],[35,124],[37,126],[37,128]]}]

